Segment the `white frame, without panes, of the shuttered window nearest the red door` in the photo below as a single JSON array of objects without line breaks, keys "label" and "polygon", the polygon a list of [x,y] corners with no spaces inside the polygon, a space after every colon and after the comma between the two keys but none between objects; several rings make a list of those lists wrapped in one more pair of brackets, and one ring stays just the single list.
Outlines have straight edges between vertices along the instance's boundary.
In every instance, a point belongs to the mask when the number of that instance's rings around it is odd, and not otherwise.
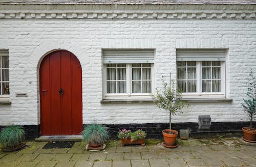
[{"label": "white frame, without panes, of the shuttered window nearest the red door", "polygon": [[[118,64],[118,63],[116,63]],[[151,63],[151,93],[132,93],[132,64],[126,63],[126,92],[127,93],[106,93],[106,64],[103,64],[103,99],[152,99],[151,94],[154,91],[154,63]]]}]

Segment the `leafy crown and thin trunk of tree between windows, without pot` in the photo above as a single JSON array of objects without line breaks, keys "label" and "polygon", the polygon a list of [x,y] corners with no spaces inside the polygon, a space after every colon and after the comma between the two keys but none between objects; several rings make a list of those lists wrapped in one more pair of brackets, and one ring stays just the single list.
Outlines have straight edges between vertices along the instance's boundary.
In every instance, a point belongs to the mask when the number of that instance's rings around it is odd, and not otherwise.
[{"label": "leafy crown and thin trunk of tree between windows, without pot", "polygon": [[169,129],[172,125],[172,115],[182,113],[182,108],[185,105],[181,101],[181,90],[176,90],[175,80],[170,79],[169,86],[162,76],[162,89],[156,89],[155,94],[152,94],[155,104],[159,109],[164,109],[169,112]]}]

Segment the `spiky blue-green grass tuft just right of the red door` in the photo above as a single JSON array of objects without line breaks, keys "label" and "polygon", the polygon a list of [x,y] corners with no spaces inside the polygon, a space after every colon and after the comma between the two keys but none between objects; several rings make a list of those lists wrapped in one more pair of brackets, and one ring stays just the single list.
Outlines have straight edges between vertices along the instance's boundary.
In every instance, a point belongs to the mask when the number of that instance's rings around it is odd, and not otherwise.
[{"label": "spiky blue-green grass tuft just right of the red door", "polygon": [[83,129],[82,136],[89,145],[98,145],[103,144],[109,138],[109,131],[108,128],[94,123]]}]

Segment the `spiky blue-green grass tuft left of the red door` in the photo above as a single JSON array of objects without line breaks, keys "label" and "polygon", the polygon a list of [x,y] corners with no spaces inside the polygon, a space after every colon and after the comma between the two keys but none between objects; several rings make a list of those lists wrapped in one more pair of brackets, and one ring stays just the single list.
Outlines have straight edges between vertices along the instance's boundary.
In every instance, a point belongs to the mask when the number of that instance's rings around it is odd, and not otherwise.
[{"label": "spiky blue-green grass tuft left of the red door", "polygon": [[22,126],[11,125],[1,130],[0,143],[5,148],[14,148],[25,140],[25,130]]}]

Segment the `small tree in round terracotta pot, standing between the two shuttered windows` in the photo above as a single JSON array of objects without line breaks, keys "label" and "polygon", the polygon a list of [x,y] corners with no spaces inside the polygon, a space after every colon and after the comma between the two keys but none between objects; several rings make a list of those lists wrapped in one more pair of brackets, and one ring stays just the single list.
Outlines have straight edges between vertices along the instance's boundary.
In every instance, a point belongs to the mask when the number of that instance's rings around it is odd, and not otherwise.
[{"label": "small tree in round terracotta pot, standing between the two shuttered windows", "polygon": [[169,86],[162,76],[162,89],[156,89],[155,94],[152,94],[155,104],[159,109],[164,109],[169,112],[169,129],[162,131],[164,143],[163,146],[167,148],[176,148],[176,138],[178,131],[172,129],[172,115],[182,113],[182,108],[185,105],[181,101],[181,90],[176,90],[174,79],[169,80]]}]

